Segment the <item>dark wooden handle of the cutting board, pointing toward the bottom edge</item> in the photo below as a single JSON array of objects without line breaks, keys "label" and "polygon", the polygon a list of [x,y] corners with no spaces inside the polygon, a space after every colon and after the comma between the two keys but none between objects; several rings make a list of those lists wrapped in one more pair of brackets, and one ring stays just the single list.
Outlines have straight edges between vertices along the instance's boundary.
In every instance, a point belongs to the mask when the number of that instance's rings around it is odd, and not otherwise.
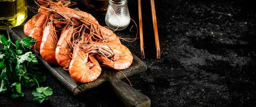
[{"label": "dark wooden handle of the cutting board, pointing toward the bottom edge", "polygon": [[127,83],[117,79],[115,81],[109,81],[115,94],[120,100],[126,104],[126,106],[150,106],[149,97],[143,95],[140,91],[127,85]]}]

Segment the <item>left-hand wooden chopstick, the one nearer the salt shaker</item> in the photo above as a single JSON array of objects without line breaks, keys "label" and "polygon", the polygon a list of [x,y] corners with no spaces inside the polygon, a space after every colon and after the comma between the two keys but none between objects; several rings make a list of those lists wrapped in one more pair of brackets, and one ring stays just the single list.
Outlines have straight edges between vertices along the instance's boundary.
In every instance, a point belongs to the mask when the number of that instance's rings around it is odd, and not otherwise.
[{"label": "left-hand wooden chopstick, the one nearer the salt shaker", "polygon": [[140,25],[141,58],[144,59],[145,54],[144,54],[143,29],[142,29],[141,0],[138,0],[138,22]]}]

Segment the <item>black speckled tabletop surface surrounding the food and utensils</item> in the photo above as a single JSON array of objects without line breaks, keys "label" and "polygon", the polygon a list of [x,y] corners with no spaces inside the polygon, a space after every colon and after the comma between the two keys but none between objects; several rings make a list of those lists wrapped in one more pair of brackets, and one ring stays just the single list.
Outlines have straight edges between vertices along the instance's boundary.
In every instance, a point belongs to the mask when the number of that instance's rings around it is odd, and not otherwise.
[{"label": "black speckled tabletop surface surrounding the food and utensils", "polygon": [[[131,18],[137,21],[137,1],[128,2]],[[254,4],[243,0],[155,3],[162,56],[156,59],[150,3],[142,0],[148,70],[129,77],[133,87],[151,98],[152,106],[255,106]],[[104,16],[92,14],[105,25]],[[134,37],[128,29],[117,34]],[[140,56],[138,41],[123,44]],[[0,106],[124,106],[107,85],[73,96],[47,70],[42,72],[47,73],[43,86],[54,91],[48,102],[33,103],[25,89],[23,99],[1,95]]]}]

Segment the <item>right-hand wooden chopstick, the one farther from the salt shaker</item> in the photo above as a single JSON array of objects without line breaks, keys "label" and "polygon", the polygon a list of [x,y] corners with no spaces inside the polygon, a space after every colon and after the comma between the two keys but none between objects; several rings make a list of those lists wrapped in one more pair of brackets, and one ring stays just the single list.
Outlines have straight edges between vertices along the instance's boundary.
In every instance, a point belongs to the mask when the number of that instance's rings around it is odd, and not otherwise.
[{"label": "right-hand wooden chopstick, the one farther from the salt shaker", "polygon": [[155,43],[156,43],[157,59],[159,59],[159,58],[160,58],[160,45],[159,45],[158,30],[157,30],[157,20],[156,20],[155,1],[154,1],[154,0],[150,0],[150,4],[151,4],[153,28],[154,28],[154,34],[155,34]]}]

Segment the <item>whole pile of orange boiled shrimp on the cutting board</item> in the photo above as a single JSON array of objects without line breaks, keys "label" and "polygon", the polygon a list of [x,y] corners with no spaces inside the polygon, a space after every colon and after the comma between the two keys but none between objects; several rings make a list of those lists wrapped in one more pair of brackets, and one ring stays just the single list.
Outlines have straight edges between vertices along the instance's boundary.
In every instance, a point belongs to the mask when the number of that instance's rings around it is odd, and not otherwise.
[{"label": "whole pile of orange boiled shrimp on the cutting board", "polygon": [[133,62],[119,37],[91,14],[69,7],[75,3],[39,0],[36,4],[39,12],[26,22],[24,33],[36,40],[33,48],[46,62],[62,66],[76,81],[96,80],[100,64],[122,70]]}]

